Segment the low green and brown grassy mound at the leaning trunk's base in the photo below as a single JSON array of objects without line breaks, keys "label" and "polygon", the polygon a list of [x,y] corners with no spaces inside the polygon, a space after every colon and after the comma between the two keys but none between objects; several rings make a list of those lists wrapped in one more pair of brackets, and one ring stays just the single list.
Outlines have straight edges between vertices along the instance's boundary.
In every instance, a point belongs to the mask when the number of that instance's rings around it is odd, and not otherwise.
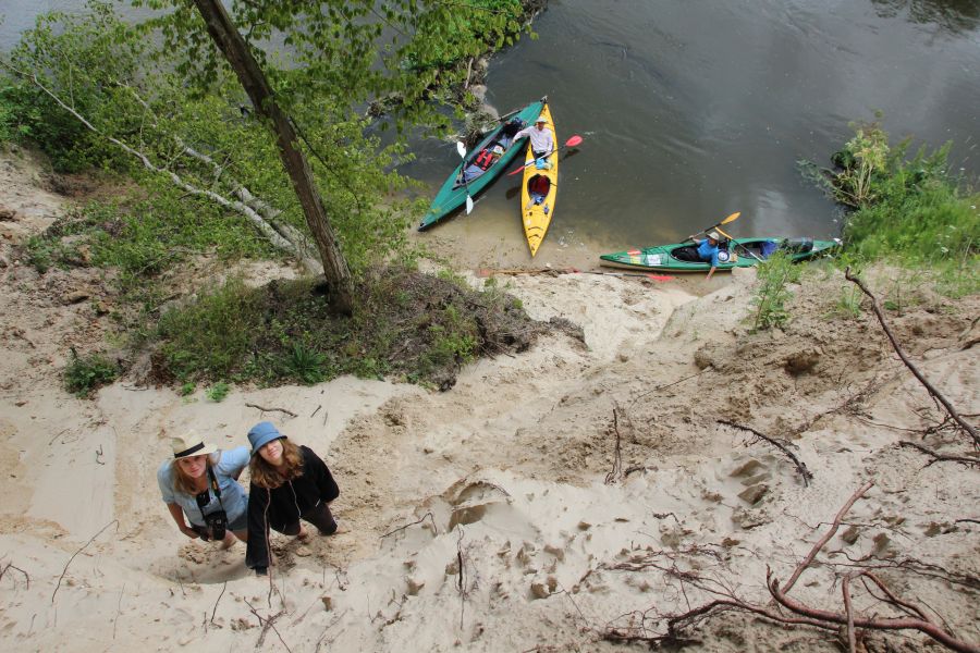
[{"label": "low green and brown grassy mound at the leaning trunk's base", "polygon": [[404,269],[371,275],[357,304],[339,318],[314,280],[264,288],[232,280],[162,317],[154,337],[163,378],[269,385],[394,373],[444,386],[485,348],[531,330],[495,287],[477,293]]}]

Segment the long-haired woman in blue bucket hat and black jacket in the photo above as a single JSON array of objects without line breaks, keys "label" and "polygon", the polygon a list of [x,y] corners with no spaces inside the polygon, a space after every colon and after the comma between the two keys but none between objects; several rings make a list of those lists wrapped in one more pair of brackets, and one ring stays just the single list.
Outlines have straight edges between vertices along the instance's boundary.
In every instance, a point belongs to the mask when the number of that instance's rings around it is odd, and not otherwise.
[{"label": "long-haired woman in blue bucket hat and black jacket", "polygon": [[248,549],[245,564],[258,575],[269,568],[269,529],[306,537],[301,523],[316,526],[321,535],[336,532],[328,504],[340,489],[327,465],[307,446],[296,446],[272,422],[248,431],[252,443],[252,485],[248,492]]}]

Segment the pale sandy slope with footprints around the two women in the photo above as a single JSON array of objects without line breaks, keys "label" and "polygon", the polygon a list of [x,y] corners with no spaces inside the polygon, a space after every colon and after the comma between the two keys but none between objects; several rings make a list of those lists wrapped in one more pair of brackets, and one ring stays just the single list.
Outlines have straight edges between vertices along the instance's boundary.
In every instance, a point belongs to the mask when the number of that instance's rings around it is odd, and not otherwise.
[{"label": "pale sandy slope with footprints around the two women", "polygon": [[[875,486],[849,514],[848,540],[842,529],[829,544],[835,559],[914,557],[980,575],[980,527],[956,521],[980,518],[977,471],[923,468],[921,454],[896,446],[921,442],[899,429],[942,415],[874,322],[826,316],[838,276],[811,279],[797,289],[792,326],[760,335],[743,323],[751,272],[710,287],[502,279],[532,317],[580,324],[585,344],[561,336],[481,360],[446,393],[345,378],[235,389],[215,404],[123,381],[85,402],[60,389],[58,373],[69,345],[102,337],[98,279],[84,269],[39,276],[12,260],[10,243],[42,229],[62,201],[38,190],[30,170],[17,158],[0,167],[0,207],[19,215],[0,223],[11,235],[0,251],[4,650],[230,650],[259,640],[294,652],[618,650],[598,636],[611,624],[705,600],[651,563],[762,601],[767,565],[787,577],[865,480]],[[68,304],[79,285],[95,296]],[[977,347],[960,347],[977,312],[975,299],[923,296],[895,318],[923,372],[972,414],[980,360]],[[219,552],[184,539],[155,479],[169,434],[194,427],[232,446],[260,418],[326,456],[351,529],[309,544],[278,540],[271,583],[244,569],[242,545]],[[812,482],[718,419],[789,438]],[[946,432],[924,442],[968,451]],[[883,575],[980,642],[977,588]],[[826,568],[808,571],[794,593],[840,609]],[[871,605],[866,593],[856,602]],[[264,634],[256,613],[279,615],[275,630]],[[706,651],[838,650],[832,634],[739,616],[698,634]],[[917,636],[890,642],[922,645]]]}]

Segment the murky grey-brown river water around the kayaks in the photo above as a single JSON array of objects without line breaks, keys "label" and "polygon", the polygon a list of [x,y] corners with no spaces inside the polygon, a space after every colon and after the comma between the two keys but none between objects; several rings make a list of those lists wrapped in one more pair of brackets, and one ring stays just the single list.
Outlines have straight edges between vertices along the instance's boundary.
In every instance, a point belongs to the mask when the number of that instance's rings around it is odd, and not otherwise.
[{"label": "murky grey-brown river water around the kayaks", "polygon": [[[0,48],[38,11],[81,5],[0,0]],[[492,59],[487,99],[504,112],[548,95],[559,140],[585,139],[562,160],[537,264],[674,242],[734,211],[733,235],[836,235],[797,161],[825,164],[875,110],[893,141],[953,140],[954,169],[980,172],[977,0],[552,0],[534,27]],[[434,194],[455,148],[413,149],[403,171]],[[529,263],[518,184],[498,180],[421,237]]]}]

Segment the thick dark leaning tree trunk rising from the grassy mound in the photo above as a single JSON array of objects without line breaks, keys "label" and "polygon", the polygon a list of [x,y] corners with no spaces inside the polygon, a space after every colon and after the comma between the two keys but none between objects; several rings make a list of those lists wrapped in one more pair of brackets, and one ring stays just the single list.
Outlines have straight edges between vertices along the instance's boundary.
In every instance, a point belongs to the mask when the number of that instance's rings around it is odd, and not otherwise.
[{"label": "thick dark leaning tree trunk rising from the grassy mound", "polygon": [[270,121],[275,133],[279,157],[293,182],[306,223],[323,261],[323,273],[330,286],[330,304],[334,310],[350,315],[354,308],[354,282],[351,270],[317,192],[306,158],[297,147],[296,132],[289,116],[275,102],[272,87],[259,67],[245,39],[238,34],[221,0],[194,0],[205,20],[208,34],[231,64],[248,94],[256,112]]}]

